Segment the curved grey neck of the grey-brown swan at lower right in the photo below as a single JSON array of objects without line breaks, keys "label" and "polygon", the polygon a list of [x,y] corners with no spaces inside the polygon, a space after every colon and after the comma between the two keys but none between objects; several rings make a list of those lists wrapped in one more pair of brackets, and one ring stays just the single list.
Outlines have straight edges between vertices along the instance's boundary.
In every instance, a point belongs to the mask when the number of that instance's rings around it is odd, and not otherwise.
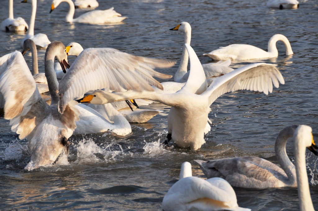
[{"label": "curved grey neck of the grey-brown swan at lower right", "polygon": [[297,125],[292,125],[284,128],[277,136],[275,142],[275,153],[277,160],[281,168],[287,174],[288,180],[286,183],[288,185],[296,185],[296,170],[294,164],[289,160],[286,153],[286,142],[288,138],[292,137]]}]

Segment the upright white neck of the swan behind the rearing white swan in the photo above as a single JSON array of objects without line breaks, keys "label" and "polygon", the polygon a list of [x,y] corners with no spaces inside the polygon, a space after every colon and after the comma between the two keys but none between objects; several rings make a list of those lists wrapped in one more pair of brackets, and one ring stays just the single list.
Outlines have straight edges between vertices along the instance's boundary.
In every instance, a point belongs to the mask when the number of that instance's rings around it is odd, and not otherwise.
[{"label": "upright white neck of the swan behind the rearing white swan", "polygon": [[[184,44],[187,43],[190,45],[191,42],[191,28],[184,31]],[[188,71],[188,61],[189,61],[189,54],[187,49],[183,45],[183,51],[181,55],[180,65],[178,70],[176,71],[174,80],[178,82],[185,73]]]}]

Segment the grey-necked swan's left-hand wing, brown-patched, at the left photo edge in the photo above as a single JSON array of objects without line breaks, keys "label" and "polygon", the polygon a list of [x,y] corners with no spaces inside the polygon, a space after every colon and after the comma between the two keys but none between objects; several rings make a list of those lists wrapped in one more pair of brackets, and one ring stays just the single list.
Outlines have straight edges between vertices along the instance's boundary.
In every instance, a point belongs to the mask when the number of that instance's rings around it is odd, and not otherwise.
[{"label": "grey-necked swan's left-hand wing, brown-patched, at the left photo edge", "polygon": [[42,100],[21,52],[0,58],[0,105],[11,130],[20,139],[28,136],[43,116],[47,104]]}]

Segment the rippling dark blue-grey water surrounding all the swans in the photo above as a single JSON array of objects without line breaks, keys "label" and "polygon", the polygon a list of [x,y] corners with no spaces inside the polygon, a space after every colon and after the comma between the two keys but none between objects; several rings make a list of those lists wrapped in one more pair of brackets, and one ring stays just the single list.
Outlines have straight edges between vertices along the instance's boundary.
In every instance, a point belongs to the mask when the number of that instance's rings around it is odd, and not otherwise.
[{"label": "rippling dark blue-grey water surrounding all the swans", "polygon": [[[2,210],[162,210],[163,196],[178,180],[181,163],[190,161],[193,174],[204,178],[194,159],[209,160],[254,155],[277,164],[274,140],[292,124],[306,124],[318,137],[317,96],[317,2],[301,1],[298,10],[266,8],[266,1],[130,0],[101,1],[98,9],[114,6],[128,18],[119,25],[68,24],[68,5],[62,3],[49,14],[51,1],[38,0],[35,33],[51,41],[79,42],[87,47],[112,47],[147,57],[179,60],[183,34],[169,31],[181,21],[192,26],[191,46],[202,56],[219,46],[253,44],[262,49],[273,34],[284,34],[294,55],[285,56],[278,43],[278,58],[258,60],[276,64],[285,85],[265,95],[238,91],[218,98],[209,117],[211,131],[196,152],[165,149],[169,107],[150,105],[163,112],[147,123],[132,124],[133,133],[118,137],[110,133],[72,136],[68,158],[56,165],[26,172],[30,157],[27,141],[18,140],[9,121],[0,119],[0,203]],[[87,10],[76,10],[75,17]],[[31,5],[14,1],[15,17],[29,21]],[[8,16],[7,1],[0,6],[1,20]],[[20,49],[24,34],[0,32],[0,55]],[[44,70],[44,50],[39,69]],[[24,56],[31,67],[31,54]],[[69,59],[70,62],[73,58]],[[233,62],[237,68],[249,62]],[[178,65],[178,63],[177,63]],[[176,67],[164,70],[174,74]],[[293,159],[292,144],[287,154]],[[318,209],[317,158],[307,154],[308,180]],[[252,210],[299,210],[296,188],[264,190],[234,188],[241,207]]]}]

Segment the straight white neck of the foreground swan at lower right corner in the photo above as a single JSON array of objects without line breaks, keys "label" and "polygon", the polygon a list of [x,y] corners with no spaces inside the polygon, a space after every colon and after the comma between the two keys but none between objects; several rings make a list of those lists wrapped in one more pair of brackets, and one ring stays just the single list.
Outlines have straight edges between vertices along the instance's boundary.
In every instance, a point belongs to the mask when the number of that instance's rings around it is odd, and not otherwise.
[{"label": "straight white neck of the foreground swan at lower right corner", "polygon": [[298,184],[298,198],[301,211],[314,211],[311,201],[308,176],[306,170],[306,146],[301,143],[301,139],[294,137],[294,156]]}]

